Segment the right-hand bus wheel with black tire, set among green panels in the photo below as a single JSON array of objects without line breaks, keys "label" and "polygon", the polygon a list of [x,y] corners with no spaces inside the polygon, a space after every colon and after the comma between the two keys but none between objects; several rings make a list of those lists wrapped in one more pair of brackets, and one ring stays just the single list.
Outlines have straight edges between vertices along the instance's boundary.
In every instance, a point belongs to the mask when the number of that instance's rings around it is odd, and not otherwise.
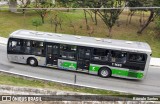
[{"label": "right-hand bus wheel with black tire, set among green panels", "polygon": [[102,67],[98,71],[98,75],[103,78],[109,78],[111,74],[112,74],[111,70],[107,67]]}]

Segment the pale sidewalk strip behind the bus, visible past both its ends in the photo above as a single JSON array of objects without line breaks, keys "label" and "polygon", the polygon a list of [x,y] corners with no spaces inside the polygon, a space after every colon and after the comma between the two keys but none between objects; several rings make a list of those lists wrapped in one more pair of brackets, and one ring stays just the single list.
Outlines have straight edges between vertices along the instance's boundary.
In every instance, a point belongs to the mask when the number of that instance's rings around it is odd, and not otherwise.
[{"label": "pale sidewalk strip behind the bus, visible past both its ends", "polygon": [[[6,45],[7,41],[8,41],[7,38],[0,37],[0,44]],[[160,58],[152,57],[150,61],[150,66],[160,67]]]}]

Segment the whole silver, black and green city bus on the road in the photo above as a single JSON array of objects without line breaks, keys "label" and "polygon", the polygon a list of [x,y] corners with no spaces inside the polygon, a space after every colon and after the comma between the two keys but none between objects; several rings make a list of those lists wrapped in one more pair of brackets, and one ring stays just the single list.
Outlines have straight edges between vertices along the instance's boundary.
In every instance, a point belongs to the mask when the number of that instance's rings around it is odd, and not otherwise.
[{"label": "whole silver, black and green city bus on the road", "polygon": [[9,36],[7,57],[10,62],[104,78],[143,79],[149,68],[151,48],[145,42],[17,30]]}]

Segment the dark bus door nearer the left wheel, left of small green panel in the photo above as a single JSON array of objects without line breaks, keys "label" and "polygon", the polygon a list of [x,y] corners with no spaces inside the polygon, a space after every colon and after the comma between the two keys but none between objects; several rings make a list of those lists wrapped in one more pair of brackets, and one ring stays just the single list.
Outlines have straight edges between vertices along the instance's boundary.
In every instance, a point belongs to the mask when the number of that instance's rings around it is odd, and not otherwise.
[{"label": "dark bus door nearer the left wheel, left of small green panel", "polygon": [[46,64],[47,65],[57,65],[58,63],[58,44],[47,44],[46,45]]}]

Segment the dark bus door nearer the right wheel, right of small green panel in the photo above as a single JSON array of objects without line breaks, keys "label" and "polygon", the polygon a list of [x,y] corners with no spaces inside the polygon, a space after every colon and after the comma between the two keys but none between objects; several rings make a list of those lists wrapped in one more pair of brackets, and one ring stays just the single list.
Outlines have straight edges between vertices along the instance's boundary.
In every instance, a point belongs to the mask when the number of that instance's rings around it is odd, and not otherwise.
[{"label": "dark bus door nearer the right wheel, right of small green panel", "polygon": [[89,71],[91,49],[85,47],[78,48],[77,70]]}]

